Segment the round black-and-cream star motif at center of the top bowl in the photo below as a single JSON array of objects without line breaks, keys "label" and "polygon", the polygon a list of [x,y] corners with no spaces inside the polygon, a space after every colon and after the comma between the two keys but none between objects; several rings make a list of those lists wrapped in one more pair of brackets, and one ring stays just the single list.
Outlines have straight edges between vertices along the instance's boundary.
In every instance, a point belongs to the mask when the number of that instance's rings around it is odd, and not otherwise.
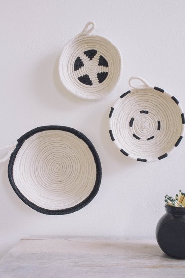
[{"label": "round black-and-cream star motif at center of the top bowl", "polygon": [[74,62],[77,79],[89,86],[104,82],[108,69],[108,61],[95,49],[84,51]]}]

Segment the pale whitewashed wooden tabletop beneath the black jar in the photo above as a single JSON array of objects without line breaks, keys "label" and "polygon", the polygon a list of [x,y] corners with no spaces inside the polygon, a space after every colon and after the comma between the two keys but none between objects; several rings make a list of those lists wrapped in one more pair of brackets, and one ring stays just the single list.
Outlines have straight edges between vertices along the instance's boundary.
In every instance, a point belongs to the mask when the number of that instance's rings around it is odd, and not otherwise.
[{"label": "pale whitewashed wooden tabletop beneath the black jar", "polygon": [[0,261],[0,278],[181,278],[185,260],[155,240],[23,238]]}]

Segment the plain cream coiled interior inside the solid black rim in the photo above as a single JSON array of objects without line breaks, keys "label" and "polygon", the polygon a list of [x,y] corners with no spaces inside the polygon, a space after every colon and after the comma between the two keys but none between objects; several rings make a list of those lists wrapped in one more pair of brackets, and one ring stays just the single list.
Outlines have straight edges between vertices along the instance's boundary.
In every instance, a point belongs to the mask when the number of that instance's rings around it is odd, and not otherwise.
[{"label": "plain cream coiled interior inside the solid black rim", "polygon": [[24,141],[13,164],[13,179],[30,202],[62,210],[90,195],[96,164],[82,139],[70,132],[46,130]]}]

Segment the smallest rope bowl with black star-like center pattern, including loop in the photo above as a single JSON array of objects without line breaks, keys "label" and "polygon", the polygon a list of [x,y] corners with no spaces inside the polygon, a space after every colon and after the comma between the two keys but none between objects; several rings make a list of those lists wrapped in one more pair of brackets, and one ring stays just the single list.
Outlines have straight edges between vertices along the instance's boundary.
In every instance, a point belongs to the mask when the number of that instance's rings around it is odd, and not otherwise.
[{"label": "smallest rope bowl with black star-like center pattern, including loop", "polygon": [[122,58],[107,39],[89,35],[94,22],[64,46],[59,60],[59,74],[64,86],[74,95],[99,99],[111,93],[121,77]]}]

